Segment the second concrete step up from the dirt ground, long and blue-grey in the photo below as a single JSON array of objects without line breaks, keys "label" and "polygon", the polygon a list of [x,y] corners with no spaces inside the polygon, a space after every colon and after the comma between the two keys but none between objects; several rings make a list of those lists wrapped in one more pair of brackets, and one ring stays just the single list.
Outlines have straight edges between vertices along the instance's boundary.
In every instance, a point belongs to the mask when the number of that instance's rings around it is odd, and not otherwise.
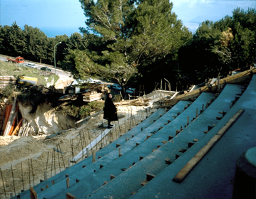
[{"label": "second concrete step up from the dirt ground, long and blue-grey", "polygon": [[[188,104],[190,102],[188,101],[181,101],[178,103],[175,107],[170,109],[166,114],[164,114],[162,117],[157,119],[152,125],[144,129],[143,131],[140,130],[140,128],[136,128],[137,131],[133,131],[133,134],[130,134],[131,138],[126,141],[124,138],[125,143],[123,141],[120,141],[119,139],[116,141],[116,144],[123,143],[118,148],[115,148],[113,151],[109,152],[105,156],[102,156],[101,158],[98,158],[96,162],[88,164],[88,166],[82,168],[80,167],[78,170],[73,170],[73,173],[68,176],[70,185],[75,185],[77,181],[83,181],[83,179],[87,178],[87,176],[93,174],[95,171],[98,171],[100,168],[102,169],[102,166],[107,166],[108,163],[111,163],[116,158],[119,157],[119,149],[121,149],[122,154],[126,154],[128,151],[132,150],[137,144],[142,143],[147,136],[150,136],[150,132],[152,131],[158,131],[160,127],[163,127],[165,124],[168,123],[168,119],[172,117],[173,114],[178,114],[178,112],[182,112],[185,104]],[[133,135],[133,136],[132,136]],[[123,136],[124,137],[124,136]],[[113,146],[116,147],[116,146]],[[71,168],[72,169],[72,168]],[[47,188],[46,190],[43,190],[43,192],[40,192],[38,194],[39,198],[47,198],[47,195],[51,193],[51,195],[57,195],[61,191],[66,189],[66,179],[63,179],[62,181],[55,183],[51,187]],[[57,196],[56,196],[57,197]]]}]

